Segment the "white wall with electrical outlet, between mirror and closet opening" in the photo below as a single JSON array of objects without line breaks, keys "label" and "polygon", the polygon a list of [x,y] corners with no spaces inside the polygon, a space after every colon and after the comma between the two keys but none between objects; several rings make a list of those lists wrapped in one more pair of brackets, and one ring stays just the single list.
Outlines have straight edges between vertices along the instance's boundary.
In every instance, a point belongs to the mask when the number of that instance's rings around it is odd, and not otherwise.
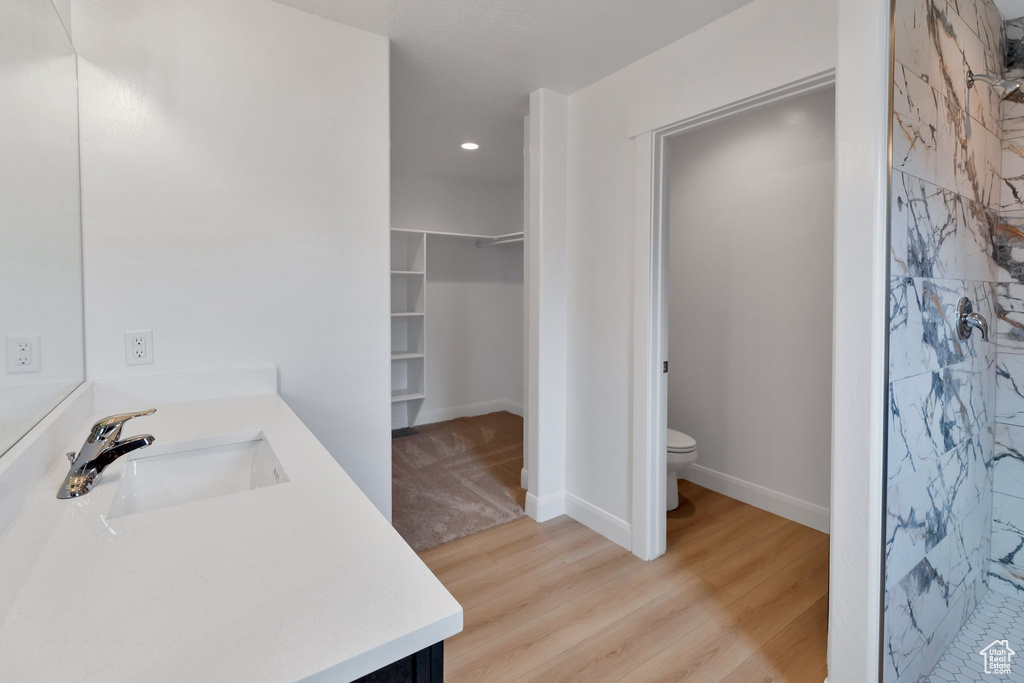
[{"label": "white wall with electrical outlet, between mirror and closet opening", "polygon": [[[388,41],[270,0],[73,23],[88,376],[278,366],[389,515]],[[126,367],[147,329],[156,362]]]}]

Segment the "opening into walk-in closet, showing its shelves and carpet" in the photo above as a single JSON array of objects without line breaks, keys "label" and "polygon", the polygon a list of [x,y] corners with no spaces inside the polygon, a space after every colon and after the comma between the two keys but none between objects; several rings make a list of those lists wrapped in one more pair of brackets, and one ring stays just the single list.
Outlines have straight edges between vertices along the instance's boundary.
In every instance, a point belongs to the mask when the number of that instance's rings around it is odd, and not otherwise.
[{"label": "opening into walk-in closet, showing its shelves and carpet", "polygon": [[522,517],[522,183],[392,173],[392,524],[423,552]]}]

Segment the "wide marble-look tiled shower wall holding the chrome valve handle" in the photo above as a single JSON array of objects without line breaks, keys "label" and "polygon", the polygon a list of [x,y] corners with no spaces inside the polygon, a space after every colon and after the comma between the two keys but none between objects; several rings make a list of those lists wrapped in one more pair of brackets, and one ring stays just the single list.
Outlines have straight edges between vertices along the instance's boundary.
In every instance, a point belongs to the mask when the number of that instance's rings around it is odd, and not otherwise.
[{"label": "wide marble-look tiled shower wall holding the chrome valve handle", "polygon": [[1001,113],[967,72],[1001,73],[991,0],[896,0],[885,680],[927,676],[987,591]]}]

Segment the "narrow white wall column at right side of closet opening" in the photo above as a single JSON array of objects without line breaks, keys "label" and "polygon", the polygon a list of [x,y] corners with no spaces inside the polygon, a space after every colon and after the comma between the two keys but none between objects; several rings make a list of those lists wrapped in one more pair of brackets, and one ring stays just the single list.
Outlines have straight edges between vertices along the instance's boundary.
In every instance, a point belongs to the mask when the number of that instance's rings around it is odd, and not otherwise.
[{"label": "narrow white wall column at right side of closet opening", "polygon": [[528,121],[526,514],[544,521],[565,512],[568,98],[531,93]]}]

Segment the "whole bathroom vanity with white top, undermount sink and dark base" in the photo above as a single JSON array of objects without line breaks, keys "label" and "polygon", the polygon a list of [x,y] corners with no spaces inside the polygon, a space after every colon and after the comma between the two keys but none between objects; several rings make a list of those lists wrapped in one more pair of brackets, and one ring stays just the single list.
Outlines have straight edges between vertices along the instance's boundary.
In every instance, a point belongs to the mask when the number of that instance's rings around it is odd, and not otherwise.
[{"label": "whole bathroom vanity with white top, undermount sink and dark base", "polygon": [[[0,678],[440,680],[462,608],[275,391],[85,383],[0,459]],[[124,434],[155,442],[58,500],[65,453],[150,408]]]}]

